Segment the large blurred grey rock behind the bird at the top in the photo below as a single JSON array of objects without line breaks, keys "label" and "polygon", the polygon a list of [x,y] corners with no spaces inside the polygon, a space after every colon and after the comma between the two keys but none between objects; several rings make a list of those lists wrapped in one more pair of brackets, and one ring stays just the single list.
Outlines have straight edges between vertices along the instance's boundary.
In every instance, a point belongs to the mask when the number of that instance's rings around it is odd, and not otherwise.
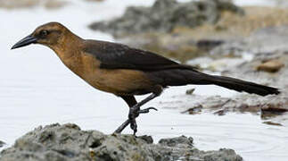
[{"label": "large blurred grey rock behind the bird at the top", "polygon": [[115,37],[151,31],[169,32],[178,26],[194,28],[205,23],[214,24],[223,10],[244,13],[241,8],[226,0],[188,3],[157,0],[152,7],[128,7],[122,17],[94,22],[89,27],[111,33]]}]

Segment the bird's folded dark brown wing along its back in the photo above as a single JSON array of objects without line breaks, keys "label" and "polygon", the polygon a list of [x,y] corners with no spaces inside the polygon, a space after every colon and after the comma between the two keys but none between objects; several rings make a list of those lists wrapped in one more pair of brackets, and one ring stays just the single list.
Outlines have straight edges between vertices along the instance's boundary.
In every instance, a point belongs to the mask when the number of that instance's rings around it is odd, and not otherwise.
[{"label": "bird's folded dark brown wing along its back", "polygon": [[161,55],[125,45],[86,40],[84,51],[100,60],[103,69],[134,69],[139,71],[161,71],[167,69],[189,69],[189,65],[177,64]]}]

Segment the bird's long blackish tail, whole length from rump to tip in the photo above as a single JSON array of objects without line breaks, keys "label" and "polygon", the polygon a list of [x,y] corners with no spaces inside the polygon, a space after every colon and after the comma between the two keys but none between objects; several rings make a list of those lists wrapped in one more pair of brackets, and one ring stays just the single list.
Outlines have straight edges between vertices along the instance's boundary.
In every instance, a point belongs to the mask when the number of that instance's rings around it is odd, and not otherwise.
[{"label": "bird's long blackish tail, whole length from rump to tip", "polygon": [[226,89],[234,89],[236,91],[255,93],[260,96],[270,94],[279,94],[280,91],[276,88],[263,86],[251,81],[239,80],[231,77],[209,75],[195,70],[167,70],[160,72],[152,72],[152,76],[160,80],[163,87],[166,86],[183,86],[186,84],[209,85],[214,84]]}]

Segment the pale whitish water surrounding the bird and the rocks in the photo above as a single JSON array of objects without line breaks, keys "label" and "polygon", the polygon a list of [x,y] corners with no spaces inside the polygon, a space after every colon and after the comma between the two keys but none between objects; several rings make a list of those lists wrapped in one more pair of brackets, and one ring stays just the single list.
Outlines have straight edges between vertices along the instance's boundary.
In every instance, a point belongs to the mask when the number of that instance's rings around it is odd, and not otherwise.
[{"label": "pale whitish water surrounding the bird and the rocks", "polygon": [[[38,25],[61,21],[82,38],[111,40],[110,35],[88,30],[92,21],[104,20],[123,13],[128,4],[152,3],[125,0],[104,3],[73,1],[61,10],[49,11],[41,7],[29,10],[0,10],[0,140],[11,146],[38,125],[77,123],[83,130],[111,133],[126,120],[128,107],[119,97],[93,89],[70,72],[53,54],[41,46],[10,50],[12,45],[29,35]],[[245,160],[287,160],[288,129],[262,123],[259,115],[180,114],[173,109],[185,89],[194,86],[166,89],[164,94],[147,106],[160,110],[144,114],[138,119],[138,134],[160,138],[179,135],[192,136],[197,148],[208,150],[234,148]],[[200,95],[235,95],[234,91],[214,86],[197,87]],[[137,97],[141,99],[143,97]],[[182,99],[182,100],[183,100]],[[172,107],[172,108],[171,108]],[[173,119],[171,119],[173,118]],[[125,130],[124,133],[131,133]]]}]

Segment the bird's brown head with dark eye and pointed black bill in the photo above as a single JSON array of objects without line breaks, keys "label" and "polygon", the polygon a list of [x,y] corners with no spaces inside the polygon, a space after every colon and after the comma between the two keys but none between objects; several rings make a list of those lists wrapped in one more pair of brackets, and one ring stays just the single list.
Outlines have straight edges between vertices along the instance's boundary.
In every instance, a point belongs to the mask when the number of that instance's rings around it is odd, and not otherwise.
[{"label": "bird's brown head with dark eye and pointed black bill", "polygon": [[49,22],[37,27],[29,36],[22,38],[12,49],[29,46],[30,44],[41,44],[52,47],[60,43],[69,30],[59,22]]}]

